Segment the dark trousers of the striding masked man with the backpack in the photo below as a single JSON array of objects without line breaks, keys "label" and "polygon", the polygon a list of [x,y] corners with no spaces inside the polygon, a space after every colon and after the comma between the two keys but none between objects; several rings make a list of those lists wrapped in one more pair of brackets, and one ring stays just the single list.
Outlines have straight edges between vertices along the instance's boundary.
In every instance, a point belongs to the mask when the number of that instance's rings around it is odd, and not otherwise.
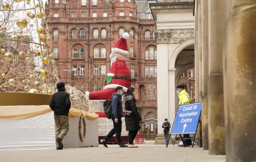
[{"label": "dark trousers of the striding masked man with the backpack", "polygon": [[116,134],[116,139],[117,139],[117,142],[118,144],[121,144],[122,143],[122,140],[121,140],[121,132],[122,132],[122,120],[121,120],[122,116],[119,117],[118,116],[118,122],[116,123],[115,122],[115,116],[114,114],[111,114],[111,119],[113,120],[113,125],[114,125],[114,128],[112,130],[110,130],[110,132],[108,133],[108,135],[104,138],[104,140],[108,140],[110,139],[112,136],[114,136],[114,134]]}]

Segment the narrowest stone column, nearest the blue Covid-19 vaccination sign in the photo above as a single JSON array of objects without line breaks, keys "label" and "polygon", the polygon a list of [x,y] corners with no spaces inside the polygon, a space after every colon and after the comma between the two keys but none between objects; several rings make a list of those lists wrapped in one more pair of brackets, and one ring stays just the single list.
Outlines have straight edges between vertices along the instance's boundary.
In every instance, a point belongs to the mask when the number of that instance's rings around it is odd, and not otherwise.
[{"label": "narrowest stone column, nearest the blue Covid-19 vaccination sign", "polygon": [[208,0],[202,0],[202,137],[204,150],[208,150],[208,63]]}]

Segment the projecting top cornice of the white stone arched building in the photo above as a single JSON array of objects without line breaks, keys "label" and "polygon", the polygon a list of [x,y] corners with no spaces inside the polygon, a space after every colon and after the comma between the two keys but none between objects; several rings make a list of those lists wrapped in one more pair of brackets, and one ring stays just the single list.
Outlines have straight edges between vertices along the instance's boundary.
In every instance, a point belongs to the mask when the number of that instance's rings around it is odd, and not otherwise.
[{"label": "projecting top cornice of the white stone arched building", "polygon": [[159,11],[177,11],[177,10],[193,10],[194,2],[164,2],[149,3],[150,10],[154,21],[156,22],[156,12]]}]

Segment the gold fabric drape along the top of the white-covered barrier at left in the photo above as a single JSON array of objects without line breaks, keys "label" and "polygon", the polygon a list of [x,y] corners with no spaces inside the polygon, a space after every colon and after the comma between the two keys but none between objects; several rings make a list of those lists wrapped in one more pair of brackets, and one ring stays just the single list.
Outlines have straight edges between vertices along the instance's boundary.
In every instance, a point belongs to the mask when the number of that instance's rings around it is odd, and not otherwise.
[{"label": "gold fabric drape along the top of the white-covered barrier at left", "polygon": [[[21,120],[32,118],[34,116],[42,115],[51,112],[49,106],[0,106],[0,120]],[[98,120],[98,114],[84,112],[71,108],[68,116],[70,118],[77,118],[84,116],[89,120]]]}]

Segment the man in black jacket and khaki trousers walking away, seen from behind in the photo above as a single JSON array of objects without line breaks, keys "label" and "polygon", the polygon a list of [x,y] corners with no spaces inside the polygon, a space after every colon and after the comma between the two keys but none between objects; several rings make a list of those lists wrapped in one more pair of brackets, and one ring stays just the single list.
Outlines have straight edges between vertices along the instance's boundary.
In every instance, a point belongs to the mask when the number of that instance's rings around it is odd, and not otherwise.
[{"label": "man in black jacket and khaki trousers walking away, seen from behind", "polygon": [[62,140],[68,133],[68,113],[71,107],[70,96],[65,92],[65,84],[57,83],[58,92],[52,95],[50,108],[54,111],[55,137],[57,150],[63,149]]}]

